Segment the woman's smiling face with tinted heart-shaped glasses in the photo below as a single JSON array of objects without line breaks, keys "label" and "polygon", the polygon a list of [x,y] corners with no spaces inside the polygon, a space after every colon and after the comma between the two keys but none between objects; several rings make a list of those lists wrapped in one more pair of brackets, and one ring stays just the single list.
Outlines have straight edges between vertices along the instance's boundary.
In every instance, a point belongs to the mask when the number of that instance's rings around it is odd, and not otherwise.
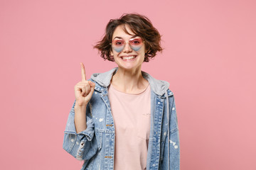
[{"label": "woman's smiling face with tinted heart-shaped glasses", "polygon": [[135,35],[129,26],[127,34],[122,26],[117,26],[112,36],[111,55],[120,69],[141,69],[145,57],[145,45],[139,36]]}]

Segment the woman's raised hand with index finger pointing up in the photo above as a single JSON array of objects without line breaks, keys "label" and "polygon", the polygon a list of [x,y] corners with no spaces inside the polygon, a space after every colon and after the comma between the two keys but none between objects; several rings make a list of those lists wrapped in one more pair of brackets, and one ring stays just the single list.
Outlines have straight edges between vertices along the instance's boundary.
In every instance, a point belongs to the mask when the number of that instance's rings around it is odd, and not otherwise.
[{"label": "woman's raised hand with index finger pointing up", "polygon": [[78,106],[87,106],[87,103],[92,98],[95,89],[95,83],[87,81],[85,76],[85,66],[80,62],[82,70],[82,81],[75,84],[75,100]]}]

